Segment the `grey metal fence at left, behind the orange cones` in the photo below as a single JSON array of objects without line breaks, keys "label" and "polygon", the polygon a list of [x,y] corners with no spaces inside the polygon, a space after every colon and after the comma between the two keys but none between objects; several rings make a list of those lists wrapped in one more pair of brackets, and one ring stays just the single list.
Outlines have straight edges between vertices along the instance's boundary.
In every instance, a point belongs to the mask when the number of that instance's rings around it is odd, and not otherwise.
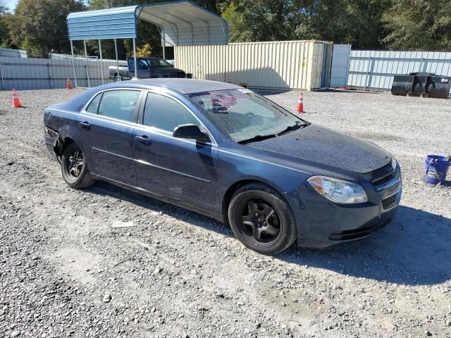
[{"label": "grey metal fence at left, behind the orange cones", "polygon": [[[119,65],[126,64],[125,61],[119,61]],[[104,82],[111,82],[108,77],[109,65],[116,65],[116,61],[104,61],[102,70],[100,61],[88,61],[91,87],[101,84],[101,71],[104,73]],[[75,73],[78,87],[87,87],[85,60],[75,59]],[[0,57],[0,90],[66,88],[68,77],[75,85],[71,58],[55,60]]]}]

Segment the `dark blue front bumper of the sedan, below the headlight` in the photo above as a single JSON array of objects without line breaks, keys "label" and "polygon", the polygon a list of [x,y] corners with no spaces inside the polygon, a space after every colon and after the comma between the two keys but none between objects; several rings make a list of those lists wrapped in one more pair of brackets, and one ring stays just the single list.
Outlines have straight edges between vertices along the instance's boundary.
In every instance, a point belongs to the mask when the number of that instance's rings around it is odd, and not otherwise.
[{"label": "dark blue front bumper of the sedan, below the headlight", "polygon": [[368,237],[388,225],[402,194],[399,166],[393,180],[383,187],[373,187],[371,183],[362,186],[369,200],[363,204],[335,204],[307,182],[297,189],[297,194],[290,194],[299,196],[296,201],[292,200],[297,206],[293,210],[296,210],[298,245],[323,248]]}]

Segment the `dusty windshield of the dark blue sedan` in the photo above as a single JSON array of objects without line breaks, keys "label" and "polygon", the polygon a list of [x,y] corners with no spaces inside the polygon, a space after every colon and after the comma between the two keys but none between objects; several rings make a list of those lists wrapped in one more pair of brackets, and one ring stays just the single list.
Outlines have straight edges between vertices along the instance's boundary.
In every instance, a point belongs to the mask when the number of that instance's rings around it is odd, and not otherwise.
[{"label": "dusty windshield of the dark blue sedan", "polygon": [[307,124],[249,89],[216,90],[188,96],[235,142],[259,141]]}]

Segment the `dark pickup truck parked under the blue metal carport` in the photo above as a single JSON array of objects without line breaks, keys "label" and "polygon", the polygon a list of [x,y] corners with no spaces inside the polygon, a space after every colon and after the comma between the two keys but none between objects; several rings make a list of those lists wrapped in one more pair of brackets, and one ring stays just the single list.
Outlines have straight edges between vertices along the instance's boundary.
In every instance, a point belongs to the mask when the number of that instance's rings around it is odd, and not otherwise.
[{"label": "dark pickup truck parked under the blue metal carport", "polygon": [[[137,77],[140,79],[153,79],[156,77],[191,77],[181,69],[174,68],[171,63],[163,58],[146,57],[137,58]],[[109,66],[109,77],[115,82],[131,80],[135,77],[135,59],[128,58],[127,67],[116,65]]]}]

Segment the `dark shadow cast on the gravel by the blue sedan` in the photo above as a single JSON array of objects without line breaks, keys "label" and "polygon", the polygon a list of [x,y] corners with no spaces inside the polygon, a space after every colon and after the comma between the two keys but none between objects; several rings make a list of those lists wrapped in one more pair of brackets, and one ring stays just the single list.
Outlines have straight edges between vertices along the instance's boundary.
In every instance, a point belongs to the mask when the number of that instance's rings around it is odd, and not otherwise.
[{"label": "dark shadow cast on the gravel by the blue sedan", "polygon": [[[150,211],[233,237],[228,225],[112,184],[97,182],[89,192],[128,201]],[[400,206],[384,230],[328,249],[296,245],[276,260],[334,271],[342,275],[406,285],[433,285],[451,279],[451,219]]]}]

